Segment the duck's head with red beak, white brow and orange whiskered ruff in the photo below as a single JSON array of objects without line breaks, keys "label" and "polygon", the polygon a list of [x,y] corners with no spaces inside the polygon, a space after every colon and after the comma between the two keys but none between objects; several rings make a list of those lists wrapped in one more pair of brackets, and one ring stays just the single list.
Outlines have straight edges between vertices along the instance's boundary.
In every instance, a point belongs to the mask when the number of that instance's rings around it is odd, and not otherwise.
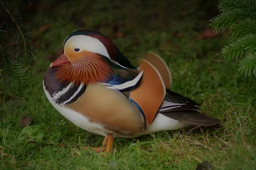
[{"label": "duck's head with red beak, white brow and orange whiskered ruff", "polygon": [[61,56],[51,63],[56,68],[56,78],[60,81],[79,83],[103,82],[109,78],[109,63],[118,60],[118,49],[104,35],[79,30],[74,31],[64,41]]}]

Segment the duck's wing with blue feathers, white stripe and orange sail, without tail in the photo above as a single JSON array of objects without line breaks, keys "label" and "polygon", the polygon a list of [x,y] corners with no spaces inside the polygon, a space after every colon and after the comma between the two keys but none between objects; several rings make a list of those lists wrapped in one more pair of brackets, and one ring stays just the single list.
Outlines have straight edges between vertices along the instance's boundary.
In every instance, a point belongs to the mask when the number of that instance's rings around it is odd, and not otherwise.
[{"label": "duck's wing with blue feathers, white stripe and orange sail, without tail", "polygon": [[149,126],[166,95],[165,84],[160,73],[145,59],[140,62],[139,74],[132,69],[112,70],[111,78],[102,84],[127,97],[142,114],[145,126]]}]

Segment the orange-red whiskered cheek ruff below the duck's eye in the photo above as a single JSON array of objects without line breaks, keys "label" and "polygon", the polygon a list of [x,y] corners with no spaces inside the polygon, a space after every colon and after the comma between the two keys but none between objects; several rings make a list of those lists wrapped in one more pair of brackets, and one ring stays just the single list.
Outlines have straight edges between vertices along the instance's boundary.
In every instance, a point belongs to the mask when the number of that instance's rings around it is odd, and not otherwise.
[{"label": "orange-red whiskered cheek ruff below the duck's eye", "polygon": [[104,82],[110,77],[111,68],[98,54],[84,51],[76,61],[61,65],[56,71],[60,81],[89,83]]}]

